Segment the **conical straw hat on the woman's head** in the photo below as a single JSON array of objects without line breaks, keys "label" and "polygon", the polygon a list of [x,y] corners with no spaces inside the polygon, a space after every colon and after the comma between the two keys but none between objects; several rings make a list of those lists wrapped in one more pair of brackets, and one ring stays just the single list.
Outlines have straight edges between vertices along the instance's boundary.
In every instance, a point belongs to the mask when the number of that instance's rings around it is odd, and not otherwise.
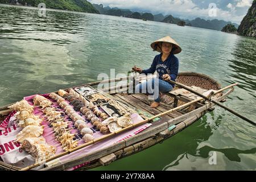
[{"label": "conical straw hat on the woman's head", "polygon": [[161,46],[160,46],[160,42],[168,42],[174,45],[174,47],[172,48],[172,53],[177,54],[181,52],[181,47],[179,46],[179,44],[177,44],[175,42],[174,39],[172,39],[170,36],[165,36],[162,39],[156,40],[155,42],[153,42],[151,44],[152,49],[154,49],[154,51],[158,51],[158,52],[162,52]]}]

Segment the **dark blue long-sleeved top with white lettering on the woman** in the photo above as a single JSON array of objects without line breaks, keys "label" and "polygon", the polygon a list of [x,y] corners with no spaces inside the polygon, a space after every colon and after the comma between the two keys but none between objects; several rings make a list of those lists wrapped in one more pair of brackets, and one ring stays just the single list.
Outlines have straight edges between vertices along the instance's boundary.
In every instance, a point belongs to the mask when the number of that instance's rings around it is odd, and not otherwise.
[{"label": "dark blue long-sleeved top with white lettering on the woman", "polygon": [[[171,53],[164,62],[162,61],[161,57],[162,53],[156,55],[151,67],[143,70],[142,73],[147,75],[148,73],[153,74],[155,71],[157,71],[160,80],[163,80],[163,75],[168,74],[171,76],[171,80],[175,81],[179,70],[179,59],[177,59],[173,53]],[[174,84],[171,85],[174,87]]]}]

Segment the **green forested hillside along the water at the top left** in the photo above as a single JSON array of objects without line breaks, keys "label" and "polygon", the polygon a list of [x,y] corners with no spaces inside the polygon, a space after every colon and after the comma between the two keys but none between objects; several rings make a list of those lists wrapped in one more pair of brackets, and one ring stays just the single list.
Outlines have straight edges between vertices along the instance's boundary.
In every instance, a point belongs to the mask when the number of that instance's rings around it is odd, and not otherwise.
[{"label": "green forested hillside along the water at the top left", "polygon": [[85,0],[0,0],[0,3],[15,4],[15,5],[28,5],[37,7],[39,3],[45,3],[47,8],[82,11],[86,13],[100,13],[96,10],[91,3]]}]

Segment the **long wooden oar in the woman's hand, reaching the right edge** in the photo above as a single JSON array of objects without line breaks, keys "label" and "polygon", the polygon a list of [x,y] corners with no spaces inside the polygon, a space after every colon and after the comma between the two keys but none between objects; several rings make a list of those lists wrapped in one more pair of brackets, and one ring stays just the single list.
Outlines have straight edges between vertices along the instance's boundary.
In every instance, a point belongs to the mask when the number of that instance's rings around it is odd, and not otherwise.
[{"label": "long wooden oar in the woman's hand, reaching the right edge", "polygon": [[[232,113],[232,114],[236,115],[237,117],[240,117],[241,119],[243,119],[243,120],[245,120],[245,121],[247,121],[247,122],[253,124],[254,126],[256,125],[256,122],[251,121],[250,119],[244,117],[243,115],[237,113],[236,111],[234,111],[234,110],[232,110],[232,109],[229,109],[228,107],[226,107],[226,106],[220,104],[219,102],[216,102],[216,101],[212,100],[211,98],[208,98],[208,97],[204,96],[203,94],[201,94],[201,93],[199,93],[199,92],[196,92],[195,90],[192,90],[192,89],[189,88],[187,85],[183,85],[183,84],[180,84],[179,82],[172,81],[172,80],[168,80],[168,82],[170,82],[171,84],[175,84],[175,85],[177,85],[177,86],[180,86],[181,88],[184,88],[184,89],[188,90],[189,92],[195,93],[197,96],[203,97],[205,100],[208,100],[208,101],[210,101],[210,102],[213,102],[214,104],[216,104],[216,105],[222,107],[223,109],[228,110],[230,113]],[[233,85],[235,86],[235,85],[238,85],[238,84],[233,84]]]}]

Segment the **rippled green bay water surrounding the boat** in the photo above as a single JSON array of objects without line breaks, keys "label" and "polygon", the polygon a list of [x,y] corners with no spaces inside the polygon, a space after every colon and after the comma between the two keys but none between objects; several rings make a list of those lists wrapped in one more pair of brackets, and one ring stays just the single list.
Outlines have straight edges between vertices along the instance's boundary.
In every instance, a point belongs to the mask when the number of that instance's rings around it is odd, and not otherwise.
[{"label": "rippled green bay water surrounding the boat", "polygon": [[[179,71],[238,82],[228,106],[255,121],[256,40],[220,31],[115,16],[0,6],[0,106],[23,96],[148,68],[150,43],[170,35],[183,51]],[[255,127],[216,107],[179,134],[96,170],[255,170]],[[216,152],[216,165],[209,164]]]}]

